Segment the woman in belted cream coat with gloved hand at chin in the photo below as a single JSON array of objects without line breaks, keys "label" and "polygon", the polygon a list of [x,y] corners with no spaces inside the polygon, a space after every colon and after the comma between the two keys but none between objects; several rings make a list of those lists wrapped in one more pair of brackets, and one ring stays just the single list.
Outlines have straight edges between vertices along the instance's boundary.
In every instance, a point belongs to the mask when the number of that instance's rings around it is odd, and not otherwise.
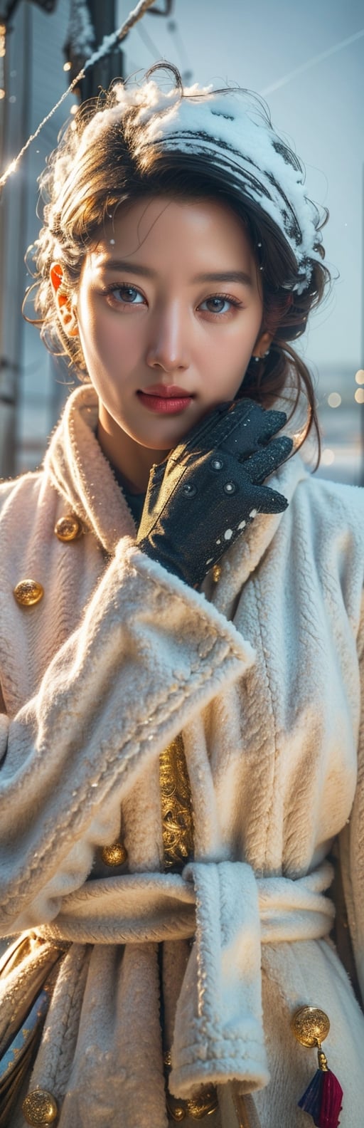
[{"label": "woman in belted cream coat with gloved hand at chin", "polygon": [[1,487],[0,1122],[359,1128],[363,501],[302,464],[288,344],[322,217],[257,100],[157,69],[43,180],[86,384]]}]

